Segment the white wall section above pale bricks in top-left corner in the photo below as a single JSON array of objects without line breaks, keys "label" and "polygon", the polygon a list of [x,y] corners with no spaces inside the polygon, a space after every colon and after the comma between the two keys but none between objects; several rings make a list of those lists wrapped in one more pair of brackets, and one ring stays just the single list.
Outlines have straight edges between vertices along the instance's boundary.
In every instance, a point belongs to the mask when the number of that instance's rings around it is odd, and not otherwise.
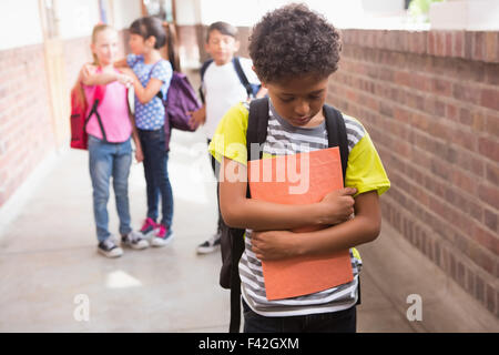
[{"label": "white wall section above pale bricks in top-left corner", "polygon": [[1,0],[0,13],[0,50],[43,42],[38,0]]}]

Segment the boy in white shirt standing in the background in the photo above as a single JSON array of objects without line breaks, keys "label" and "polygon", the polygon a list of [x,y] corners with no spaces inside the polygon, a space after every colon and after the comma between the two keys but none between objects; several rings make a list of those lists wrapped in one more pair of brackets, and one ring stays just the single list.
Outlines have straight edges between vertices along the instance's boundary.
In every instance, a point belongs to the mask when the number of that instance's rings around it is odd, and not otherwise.
[{"label": "boy in white shirt standing in the background", "polygon": [[[234,68],[233,59],[240,49],[236,40],[237,29],[226,22],[212,23],[206,36],[206,52],[211,54],[213,62],[204,72],[203,91],[205,104],[196,112],[192,112],[192,124],[204,124],[207,143],[210,144],[213,133],[222,116],[231,106],[241,101],[246,101],[247,92],[243,87]],[[244,74],[252,84],[259,84],[259,80],[252,69],[252,61],[240,58]],[[261,89],[256,97],[264,97],[265,89]],[[212,169],[215,173],[215,160],[211,158]],[[216,173],[215,173],[216,174]],[[217,233],[197,246],[197,253],[206,254],[220,247],[222,217],[218,213]]]}]

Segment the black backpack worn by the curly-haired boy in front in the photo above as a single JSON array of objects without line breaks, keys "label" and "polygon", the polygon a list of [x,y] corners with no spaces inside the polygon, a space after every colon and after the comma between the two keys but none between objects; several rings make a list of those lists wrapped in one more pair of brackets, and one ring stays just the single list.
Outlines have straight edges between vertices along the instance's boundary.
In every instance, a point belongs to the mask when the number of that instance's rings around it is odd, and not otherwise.
[{"label": "black backpack worn by the curly-haired boy in front", "polygon": [[[346,166],[348,163],[348,140],[346,134],[345,121],[342,112],[329,105],[324,105],[326,116],[326,129],[328,146],[339,146],[342,158],[343,178],[345,180]],[[268,126],[268,98],[256,99],[249,103],[249,118],[246,132],[246,149],[248,160],[262,159],[259,156],[249,156],[251,144],[263,144],[267,138]],[[249,195],[249,185],[246,190],[246,196]],[[224,226],[222,230],[221,248],[222,248],[222,268],[220,273],[220,285],[223,288],[231,290],[231,324],[228,331],[231,333],[240,332],[241,324],[241,278],[238,272],[238,263],[244,252],[244,233],[243,229],[233,229]],[[359,285],[360,286],[360,285]],[[360,300],[360,292],[359,292]],[[357,302],[359,304],[360,301]]]}]

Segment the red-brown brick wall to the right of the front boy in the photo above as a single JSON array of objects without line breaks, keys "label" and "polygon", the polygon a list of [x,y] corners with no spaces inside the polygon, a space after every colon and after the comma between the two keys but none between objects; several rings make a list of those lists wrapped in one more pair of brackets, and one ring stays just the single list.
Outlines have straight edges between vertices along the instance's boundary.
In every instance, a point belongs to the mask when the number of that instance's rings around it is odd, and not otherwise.
[{"label": "red-brown brick wall to the right of the front boy", "polygon": [[328,101],[378,149],[393,183],[385,221],[499,315],[499,33],[343,39]]}]

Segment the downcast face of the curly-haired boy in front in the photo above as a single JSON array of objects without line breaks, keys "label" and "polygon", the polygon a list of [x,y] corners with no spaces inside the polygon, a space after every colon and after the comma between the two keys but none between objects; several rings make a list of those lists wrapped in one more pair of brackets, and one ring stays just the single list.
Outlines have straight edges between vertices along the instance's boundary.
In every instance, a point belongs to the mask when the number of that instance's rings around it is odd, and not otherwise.
[{"label": "downcast face of the curly-haired boy in front", "polygon": [[316,126],[324,121],[323,105],[329,77],[303,75],[272,83],[262,83],[277,113],[295,126]]}]

